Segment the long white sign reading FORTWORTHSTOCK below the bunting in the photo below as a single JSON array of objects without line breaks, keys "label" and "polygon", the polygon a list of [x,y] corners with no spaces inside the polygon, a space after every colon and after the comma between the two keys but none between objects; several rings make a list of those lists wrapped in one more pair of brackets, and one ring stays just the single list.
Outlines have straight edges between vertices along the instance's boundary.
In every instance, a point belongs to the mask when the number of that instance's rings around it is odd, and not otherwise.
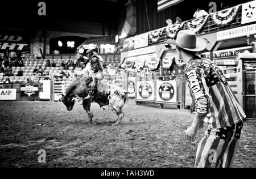
[{"label": "long white sign reading FORTWORTHSTOCK below the bunting", "polygon": [[217,32],[217,41],[226,39],[235,39],[256,33],[256,24],[246,25],[242,27],[228,29],[226,31]]}]

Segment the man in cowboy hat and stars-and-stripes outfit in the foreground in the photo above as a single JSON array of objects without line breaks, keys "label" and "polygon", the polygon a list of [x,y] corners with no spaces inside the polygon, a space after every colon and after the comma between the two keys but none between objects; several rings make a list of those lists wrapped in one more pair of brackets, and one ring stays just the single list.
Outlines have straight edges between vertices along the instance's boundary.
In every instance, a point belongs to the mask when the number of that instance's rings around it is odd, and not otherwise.
[{"label": "man in cowboy hat and stars-and-stripes outfit in the foreground", "polygon": [[197,147],[195,167],[232,167],[245,113],[217,65],[196,56],[205,49],[203,39],[193,31],[182,30],[176,41],[170,39],[167,44],[175,45],[185,62],[185,77],[196,101],[196,115],[184,131],[185,138],[192,141],[204,122],[209,125]]}]

